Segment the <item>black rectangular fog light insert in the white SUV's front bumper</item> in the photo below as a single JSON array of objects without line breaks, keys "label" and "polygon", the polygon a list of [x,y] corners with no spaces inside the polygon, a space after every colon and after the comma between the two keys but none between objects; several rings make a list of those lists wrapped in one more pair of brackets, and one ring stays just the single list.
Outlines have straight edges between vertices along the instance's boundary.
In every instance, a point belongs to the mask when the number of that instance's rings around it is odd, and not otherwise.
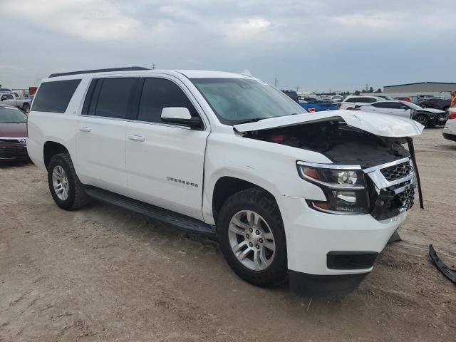
[{"label": "black rectangular fog light insert in the white SUV's front bumper", "polygon": [[370,269],[377,258],[376,252],[336,252],[326,254],[328,269]]}]

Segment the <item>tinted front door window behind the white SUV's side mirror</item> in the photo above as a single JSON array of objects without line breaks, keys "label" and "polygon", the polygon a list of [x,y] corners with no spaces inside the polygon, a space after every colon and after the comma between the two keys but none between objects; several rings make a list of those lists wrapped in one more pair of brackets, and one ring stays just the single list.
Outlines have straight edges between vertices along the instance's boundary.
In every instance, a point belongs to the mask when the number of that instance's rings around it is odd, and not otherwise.
[{"label": "tinted front door window behind the white SUV's side mirror", "polygon": [[192,116],[197,115],[187,95],[177,84],[162,78],[146,78],[142,88],[138,120],[161,123],[162,109],[166,107],[185,107]]}]

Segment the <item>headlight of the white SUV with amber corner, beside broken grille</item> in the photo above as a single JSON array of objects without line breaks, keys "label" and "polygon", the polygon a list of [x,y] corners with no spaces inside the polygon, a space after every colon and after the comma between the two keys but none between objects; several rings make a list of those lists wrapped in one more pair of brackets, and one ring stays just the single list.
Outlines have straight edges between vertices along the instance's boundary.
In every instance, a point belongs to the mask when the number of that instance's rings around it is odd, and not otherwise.
[{"label": "headlight of the white SUV with amber corner, beside broken grille", "polygon": [[301,178],[321,187],[326,202],[307,202],[314,209],[333,214],[366,214],[369,210],[366,179],[360,166],[297,162]]}]

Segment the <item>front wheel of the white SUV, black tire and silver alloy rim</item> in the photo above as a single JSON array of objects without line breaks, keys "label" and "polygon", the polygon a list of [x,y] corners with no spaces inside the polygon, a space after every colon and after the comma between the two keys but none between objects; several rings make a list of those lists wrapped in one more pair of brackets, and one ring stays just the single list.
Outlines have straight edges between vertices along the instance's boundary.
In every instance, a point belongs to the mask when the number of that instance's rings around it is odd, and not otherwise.
[{"label": "front wheel of the white SUV, black tire and silver alloy rim", "polygon": [[257,286],[286,279],[284,224],[274,197],[264,190],[242,190],[227,199],[217,220],[222,253],[239,277]]}]

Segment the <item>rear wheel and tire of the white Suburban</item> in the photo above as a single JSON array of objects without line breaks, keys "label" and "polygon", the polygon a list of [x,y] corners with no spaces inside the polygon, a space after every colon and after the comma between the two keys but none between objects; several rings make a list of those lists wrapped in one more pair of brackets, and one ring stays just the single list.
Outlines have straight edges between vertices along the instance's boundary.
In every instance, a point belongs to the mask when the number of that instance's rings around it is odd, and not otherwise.
[{"label": "rear wheel and tire of the white Suburban", "polygon": [[68,153],[51,157],[48,165],[48,185],[54,202],[62,209],[79,209],[90,202]]}]

